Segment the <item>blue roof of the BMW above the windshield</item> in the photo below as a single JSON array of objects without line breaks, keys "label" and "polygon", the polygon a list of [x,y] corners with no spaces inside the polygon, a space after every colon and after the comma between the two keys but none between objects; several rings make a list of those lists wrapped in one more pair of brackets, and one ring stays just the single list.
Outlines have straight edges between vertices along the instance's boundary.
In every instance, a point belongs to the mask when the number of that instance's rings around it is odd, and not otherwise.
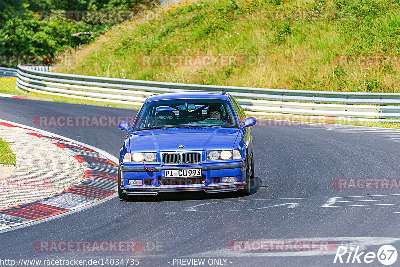
[{"label": "blue roof of the BMW above the windshield", "polygon": [[206,99],[225,99],[229,100],[230,94],[218,91],[187,91],[187,92],[168,92],[158,93],[147,97],[146,102],[158,100],[173,100],[186,98],[206,98]]}]

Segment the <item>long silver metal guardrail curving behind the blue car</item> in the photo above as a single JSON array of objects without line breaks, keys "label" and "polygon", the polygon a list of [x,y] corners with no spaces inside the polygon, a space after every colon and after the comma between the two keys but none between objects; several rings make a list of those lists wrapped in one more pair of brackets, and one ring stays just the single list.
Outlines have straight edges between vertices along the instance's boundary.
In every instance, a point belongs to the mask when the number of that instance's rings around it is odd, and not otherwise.
[{"label": "long silver metal guardrail curving behind the blue car", "polygon": [[[127,80],[18,66],[17,88],[41,94],[141,105],[154,93],[226,91],[248,111],[353,118],[400,118],[400,93],[326,92]],[[400,121],[400,120],[399,120]]]}]

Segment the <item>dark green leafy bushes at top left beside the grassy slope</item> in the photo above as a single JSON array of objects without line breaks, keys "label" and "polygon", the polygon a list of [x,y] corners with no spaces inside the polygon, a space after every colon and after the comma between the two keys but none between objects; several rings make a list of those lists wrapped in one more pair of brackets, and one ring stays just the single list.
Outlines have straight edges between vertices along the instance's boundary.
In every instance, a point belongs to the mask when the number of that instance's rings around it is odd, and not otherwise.
[{"label": "dark green leafy bushes at top left beside the grassy slope", "polygon": [[158,0],[2,0],[0,66],[49,64],[57,53],[88,44],[122,22],[82,20],[77,16],[68,19],[67,10],[125,10],[135,14],[157,3]]}]

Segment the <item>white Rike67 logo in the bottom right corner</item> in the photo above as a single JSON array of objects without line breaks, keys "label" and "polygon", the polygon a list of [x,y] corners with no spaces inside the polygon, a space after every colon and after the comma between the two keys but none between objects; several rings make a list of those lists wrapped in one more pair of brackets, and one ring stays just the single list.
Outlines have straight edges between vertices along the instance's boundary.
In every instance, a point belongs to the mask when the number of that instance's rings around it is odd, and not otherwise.
[{"label": "white Rike67 logo in the bottom right corner", "polygon": [[[355,251],[354,251],[355,250]],[[348,253],[348,255],[346,255]],[[397,250],[392,245],[381,246],[377,253],[375,252],[359,252],[359,246],[355,249],[345,246],[339,246],[336,251],[333,263],[372,263],[378,259],[383,265],[393,265],[397,260]]]}]

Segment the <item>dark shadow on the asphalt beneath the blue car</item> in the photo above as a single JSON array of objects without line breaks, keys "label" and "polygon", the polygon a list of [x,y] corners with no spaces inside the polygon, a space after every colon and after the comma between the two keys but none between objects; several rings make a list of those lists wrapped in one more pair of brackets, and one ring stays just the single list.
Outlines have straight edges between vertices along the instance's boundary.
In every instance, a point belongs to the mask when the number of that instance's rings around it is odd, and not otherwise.
[{"label": "dark shadow on the asphalt beneath the blue car", "polygon": [[[251,183],[251,194],[255,194],[262,186],[262,179],[255,177]],[[210,199],[223,199],[223,198],[242,198],[246,197],[240,195],[238,191],[227,193],[210,193],[207,194],[203,191],[192,192],[160,192],[155,196],[131,196],[126,202],[164,202],[164,201],[185,201],[185,200],[210,200]],[[123,200],[121,200],[123,201]]]}]

